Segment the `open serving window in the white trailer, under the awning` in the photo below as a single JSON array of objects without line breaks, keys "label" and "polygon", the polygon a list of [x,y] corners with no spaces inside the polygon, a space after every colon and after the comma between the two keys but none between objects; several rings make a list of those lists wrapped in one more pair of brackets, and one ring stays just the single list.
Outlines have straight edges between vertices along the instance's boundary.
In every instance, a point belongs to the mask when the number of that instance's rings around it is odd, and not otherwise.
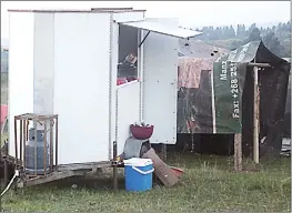
[{"label": "open serving window in the white trailer, under the awning", "polygon": [[119,26],[118,85],[138,80],[138,33],[137,28]]}]

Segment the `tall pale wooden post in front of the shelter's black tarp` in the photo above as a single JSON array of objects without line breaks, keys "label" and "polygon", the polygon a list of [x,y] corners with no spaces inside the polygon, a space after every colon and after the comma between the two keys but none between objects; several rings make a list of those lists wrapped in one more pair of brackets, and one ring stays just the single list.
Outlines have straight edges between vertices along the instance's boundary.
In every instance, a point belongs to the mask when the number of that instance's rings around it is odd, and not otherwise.
[{"label": "tall pale wooden post in front of the shelter's black tarp", "polygon": [[253,87],[253,161],[259,163],[259,105],[260,105],[260,94],[259,94],[259,72],[258,67],[253,68],[254,73],[254,87]]}]

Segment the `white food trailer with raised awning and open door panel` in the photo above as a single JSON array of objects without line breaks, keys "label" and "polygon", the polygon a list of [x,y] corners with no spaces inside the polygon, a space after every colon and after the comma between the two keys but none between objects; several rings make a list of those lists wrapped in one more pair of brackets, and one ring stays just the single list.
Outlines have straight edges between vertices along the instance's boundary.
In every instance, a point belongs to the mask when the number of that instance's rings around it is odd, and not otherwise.
[{"label": "white food trailer with raised awning and open door panel", "polygon": [[[122,153],[129,125],[142,120],[154,125],[151,143],[175,143],[178,39],[200,32],[133,9],[9,16],[9,120],[58,114],[59,164],[111,160],[112,142]],[[118,63],[128,53],[138,55],[139,80],[117,85]],[[9,153],[16,156],[9,123]]]}]

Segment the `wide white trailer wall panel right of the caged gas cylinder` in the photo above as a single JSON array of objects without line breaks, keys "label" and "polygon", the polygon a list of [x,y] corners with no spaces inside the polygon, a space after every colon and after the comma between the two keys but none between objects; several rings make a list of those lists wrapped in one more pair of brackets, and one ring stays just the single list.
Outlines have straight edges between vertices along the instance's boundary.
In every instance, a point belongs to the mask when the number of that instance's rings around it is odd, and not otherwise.
[{"label": "wide white trailer wall panel right of the caged gas cylinder", "polygon": [[109,160],[110,14],[54,14],[59,161]]}]

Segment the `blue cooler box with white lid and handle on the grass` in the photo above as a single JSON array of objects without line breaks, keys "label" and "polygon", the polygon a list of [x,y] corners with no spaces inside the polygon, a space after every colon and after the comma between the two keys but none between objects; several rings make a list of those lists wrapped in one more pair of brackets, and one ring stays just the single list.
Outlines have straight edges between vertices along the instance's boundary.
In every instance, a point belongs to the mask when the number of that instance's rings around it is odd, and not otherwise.
[{"label": "blue cooler box with white lid and handle on the grass", "polygon": [[132,158],[123,162],[127,191],[143,192],[152,189],[154,169],[151,159]]}]

